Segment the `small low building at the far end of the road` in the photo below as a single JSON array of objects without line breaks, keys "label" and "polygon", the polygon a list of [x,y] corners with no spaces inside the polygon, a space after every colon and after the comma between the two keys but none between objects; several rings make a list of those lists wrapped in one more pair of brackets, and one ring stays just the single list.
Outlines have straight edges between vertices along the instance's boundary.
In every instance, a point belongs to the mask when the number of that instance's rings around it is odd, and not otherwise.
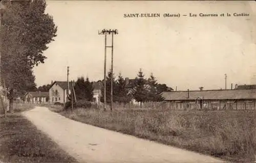
[{"label": "small low building at the far end of the road", "polygon": [[49,102],[48,92],[28,92],[24,96],[25,103],[47,103]]}]

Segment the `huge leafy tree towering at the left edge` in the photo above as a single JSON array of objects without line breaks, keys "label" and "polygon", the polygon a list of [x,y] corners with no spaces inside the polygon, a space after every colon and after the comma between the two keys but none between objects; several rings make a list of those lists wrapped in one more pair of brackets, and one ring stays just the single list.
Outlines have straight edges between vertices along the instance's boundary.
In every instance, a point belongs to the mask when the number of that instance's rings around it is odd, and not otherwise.
[{"label": "huge leafy tree towering at the left edge", "polygon": [[[44,0],[4,1],[2,12],[1,76],[8,90],[10,112],[18,92],[32,88],[32,68],[44,63],[43,52],[54,41],[57,27],[52,16],[45,14]],[[28,83],[29,82],[29,83]]]}]

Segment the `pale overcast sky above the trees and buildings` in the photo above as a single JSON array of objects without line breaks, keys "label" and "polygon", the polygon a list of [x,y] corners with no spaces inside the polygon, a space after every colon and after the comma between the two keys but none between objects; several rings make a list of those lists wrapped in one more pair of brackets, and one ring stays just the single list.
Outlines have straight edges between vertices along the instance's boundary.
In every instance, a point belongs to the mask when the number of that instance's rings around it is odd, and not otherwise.
[{"label": "pale overcast sky above the trees and buildings", "polygon": [[[47,5],[46,12],[53,16],[58,31],[45,51],[45,64],[34,69],[37,86],[67,80],[68,65],[71,79],[102,79],[104,36],[98,35],[98,30],[104,28],[118,29],[119,34],[114,36],[114,73],[121,72],[123,77],[135,78],[142,68],[146,78],[153,72],[159,83],[174,89],[177,86],[178,90],[198,90],[200,86],[224,89],[225,73],[228,88],[231,83],[256,84],[253,2],[47,1]],[[234,12],[250,16],[234,17]],[[161,16],[123,17],[130,13]],[[164,13],[219,16],[164,18]],[[109,48],[107,70],[110,64]]]}]

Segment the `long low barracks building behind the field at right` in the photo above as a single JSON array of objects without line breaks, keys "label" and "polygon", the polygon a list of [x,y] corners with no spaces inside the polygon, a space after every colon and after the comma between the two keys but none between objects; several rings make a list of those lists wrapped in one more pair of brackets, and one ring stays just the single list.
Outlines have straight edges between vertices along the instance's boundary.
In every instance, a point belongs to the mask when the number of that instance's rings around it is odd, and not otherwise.
[{"label": "long low barracks building behind the field at right", "polygon": [[255,110],[256,89],[163,92],[175,110]]}]

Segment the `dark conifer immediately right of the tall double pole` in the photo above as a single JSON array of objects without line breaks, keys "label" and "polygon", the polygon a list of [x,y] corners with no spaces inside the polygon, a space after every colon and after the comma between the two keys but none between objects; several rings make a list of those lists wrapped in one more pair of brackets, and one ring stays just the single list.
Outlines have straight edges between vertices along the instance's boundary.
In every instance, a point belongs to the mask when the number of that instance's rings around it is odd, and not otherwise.
[{"label": "dark conifer immediately right of the tall double pole", "polygon": [[117,95],[116,100],[119,103],[127,103],[131,101],[131,96],[128,95],[129,90],[127,90],[125,86],[126,86],[125,80],[123,79],[121,73],[119,73],[118,79],[116,80],[116,87],[115,87],[115,92]]}]

